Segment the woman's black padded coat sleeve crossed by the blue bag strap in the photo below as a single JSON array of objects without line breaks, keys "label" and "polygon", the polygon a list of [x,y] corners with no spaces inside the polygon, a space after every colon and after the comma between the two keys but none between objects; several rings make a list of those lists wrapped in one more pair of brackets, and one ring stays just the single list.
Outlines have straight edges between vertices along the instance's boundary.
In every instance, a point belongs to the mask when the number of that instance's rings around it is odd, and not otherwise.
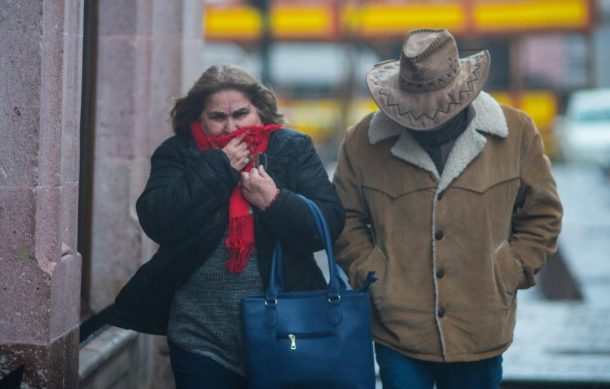
[{"label": "woman's black padded coat sleeve crossed by the blue bag strap", "polygon": [[288,167],[293,183],[280,187],[280,196],[260,213],[260,219],[283,247],[313,252],[323,248],[322,240],[313,215],[298,194],[320,207],[333,241],[343,229],[344,211],[311,138],[299,136],[295,141],[294,159]]}]

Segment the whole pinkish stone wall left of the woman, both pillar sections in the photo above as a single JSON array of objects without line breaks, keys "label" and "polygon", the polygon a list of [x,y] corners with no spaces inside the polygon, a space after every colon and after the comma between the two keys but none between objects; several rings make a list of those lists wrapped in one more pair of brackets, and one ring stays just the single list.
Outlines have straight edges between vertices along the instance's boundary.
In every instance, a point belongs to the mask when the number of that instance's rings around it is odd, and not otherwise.
[{"label": "whole pinkish stone wall left of the woman, both pillar sections", "polygon": [[[23,367],[22,387],[75,388],[79,379],[95,388],[172,386],[165,338],[118,329],[90,342],[104,353],[93,348],[81,360],[105,359],[79,378],[79,324],[81,312],[110,304],[155,250],[134,203],[150,154],[171,134],[173,99],[203,70],[203,2],[98,4],[95,120],[86,129],[94,145],[91,255],[82,267],[76,247],[84,2],[0,0],[2,385]],[[88,280],[83,307],[81,268]],[[113,348],[116,339],[124,340]],[[125,361],[136,374],[116,376]]]}]

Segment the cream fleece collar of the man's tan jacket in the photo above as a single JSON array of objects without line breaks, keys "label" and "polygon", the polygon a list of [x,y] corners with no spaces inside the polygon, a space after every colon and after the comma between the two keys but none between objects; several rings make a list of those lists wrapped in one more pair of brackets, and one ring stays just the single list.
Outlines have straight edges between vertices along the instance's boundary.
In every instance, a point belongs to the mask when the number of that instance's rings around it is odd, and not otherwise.
[{"label": "cream fleece collar of the man's tan jacket", "polygon": [[469,113],[470,123],[455,140],[440,177],[428,153],[411,134],[379,110],[375,112],[369,125],[369,142],[374,145],[398,136],[390,150],[392,155],[432,173],[439,180],[437,191],[441,192],[483,151],[486,139],[481,133],[500,138],[508,136],[508,125],[502,108],[490,95],[481,92],[469,109],[472,110]]}]

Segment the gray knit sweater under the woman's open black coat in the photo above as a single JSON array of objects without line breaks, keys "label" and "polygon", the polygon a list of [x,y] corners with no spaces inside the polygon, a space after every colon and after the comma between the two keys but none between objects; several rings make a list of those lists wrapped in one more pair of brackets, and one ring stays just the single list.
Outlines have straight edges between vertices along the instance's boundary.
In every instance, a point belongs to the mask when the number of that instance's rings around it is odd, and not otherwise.
[{"label": "gray knit sweater under the woman's open black coat", "polygon": [[240,301],[262,295],[254,253],[242,273],[225,268],[224,239],[214,254],[175,294],[169,317],[170,342],[193,354],[245,375]]}]

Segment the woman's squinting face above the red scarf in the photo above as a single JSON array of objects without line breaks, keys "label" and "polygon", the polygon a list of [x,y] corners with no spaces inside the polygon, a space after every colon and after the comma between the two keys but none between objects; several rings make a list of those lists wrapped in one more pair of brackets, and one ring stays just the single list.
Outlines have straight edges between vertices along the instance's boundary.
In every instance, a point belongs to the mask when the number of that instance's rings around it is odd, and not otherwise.
[{"label": "woman's squinting face above the red scarf", "polygon": [[248,96],[235,89],[211,95],[201,113],[201,128],[208,136],[227,135],[240,127],[262,124]]}]

